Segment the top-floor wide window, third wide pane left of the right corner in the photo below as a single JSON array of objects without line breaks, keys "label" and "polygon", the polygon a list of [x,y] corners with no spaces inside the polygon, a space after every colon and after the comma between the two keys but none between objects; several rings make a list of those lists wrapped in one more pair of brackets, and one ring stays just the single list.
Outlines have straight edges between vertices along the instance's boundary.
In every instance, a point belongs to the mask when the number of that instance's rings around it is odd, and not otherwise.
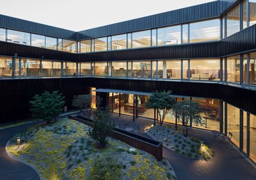
[{"label": "top-floor wide window, third wide pane left of the right corner", "polygon": [[151,46],[151,31],[132,33],[132,48],[144,48]]}]

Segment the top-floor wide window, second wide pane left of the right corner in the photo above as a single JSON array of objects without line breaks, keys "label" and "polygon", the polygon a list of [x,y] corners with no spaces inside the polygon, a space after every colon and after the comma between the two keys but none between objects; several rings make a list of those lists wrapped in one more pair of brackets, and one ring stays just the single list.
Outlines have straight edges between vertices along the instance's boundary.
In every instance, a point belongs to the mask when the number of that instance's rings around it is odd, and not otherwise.
[{"label": "top-floor wide window, second wide pane left of the right corner", "polygon": [[181,44],[181,26],[157,29],[158,46]]}]

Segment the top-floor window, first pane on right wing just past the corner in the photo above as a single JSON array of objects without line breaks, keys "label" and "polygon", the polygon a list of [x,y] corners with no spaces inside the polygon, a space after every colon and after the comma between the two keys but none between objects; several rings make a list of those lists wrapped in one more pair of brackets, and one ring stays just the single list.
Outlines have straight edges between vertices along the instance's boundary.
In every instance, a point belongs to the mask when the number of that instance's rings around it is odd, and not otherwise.
[{"label": "top-floor window, first pane on right wing just past the corner", "polygon": [[240,5],[227,14],[227,36],[240,31]]}]

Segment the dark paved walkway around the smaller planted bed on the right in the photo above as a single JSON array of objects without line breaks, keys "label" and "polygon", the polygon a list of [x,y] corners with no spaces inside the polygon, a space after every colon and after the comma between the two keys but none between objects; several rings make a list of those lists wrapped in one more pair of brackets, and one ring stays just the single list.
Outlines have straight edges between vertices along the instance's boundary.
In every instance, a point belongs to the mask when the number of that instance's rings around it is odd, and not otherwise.
[{"label": "dark paved walkway around the smaller planted bed on the right", "polygon": [[[132,121],[132,117],[122,115],[118,117],[117,114],[112,115],[113,119],[118,123],[121,123],[120,128],[123,129],[124,123],[136,126],[140,125],[140,134],[144,134],[144,127],[153,124],[153,121],[148,119],[138,118],[135,122]],[[174,168],[179,180],[255,180],[256,168],[250,164],[244,155],[241,155],[234,147],[231,147],[228,143],[223,143],[221,140],[214,140],[212,132],[205,130],[190,130],[189,135],[196,136],[203,140],[206,145],[214,150],[214,157],[211,160],[193,160],[192,158],[185,157],[175,151],[171,151],[164,147],[164,157],[170,162],[172,168]],[[149,137],[149,136],[147,136]]]}]

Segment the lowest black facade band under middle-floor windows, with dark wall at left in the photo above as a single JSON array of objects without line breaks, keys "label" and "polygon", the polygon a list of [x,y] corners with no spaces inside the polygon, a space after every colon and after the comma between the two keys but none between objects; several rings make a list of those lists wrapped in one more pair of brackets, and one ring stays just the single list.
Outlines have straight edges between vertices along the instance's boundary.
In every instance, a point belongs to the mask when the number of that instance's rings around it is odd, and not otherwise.
[{"label": "lowest black facade band under middle-floor windows, with dark wall at left", "polygon": [[255,91],[214,82],[181,82],[118,78],[27,78],[0,80],[0,122],[29,117],[29,101],[36,93],[58,90],[72,108],[73,95],[90,93],[89,87],[151,92],[172,90],[174,95],[216,98],[256,114]]}]

